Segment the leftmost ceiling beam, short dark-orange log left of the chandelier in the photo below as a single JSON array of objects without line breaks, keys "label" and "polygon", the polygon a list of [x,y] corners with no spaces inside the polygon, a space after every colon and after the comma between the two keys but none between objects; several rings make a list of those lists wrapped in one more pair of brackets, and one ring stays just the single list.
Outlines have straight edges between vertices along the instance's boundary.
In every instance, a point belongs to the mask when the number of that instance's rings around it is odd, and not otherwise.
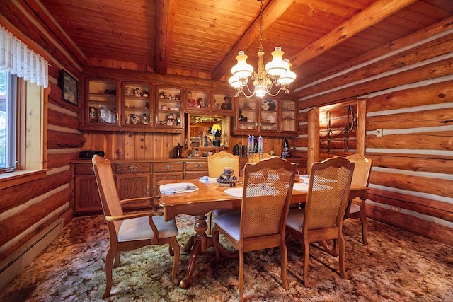
[{"label": "leftmost ceiling beam, short dark-orange log left of the chandelier", "polygon": [[175,28],[176,0],[157,0],[156,6],[156,60],[154,70],[166,74],[173,30]]}]

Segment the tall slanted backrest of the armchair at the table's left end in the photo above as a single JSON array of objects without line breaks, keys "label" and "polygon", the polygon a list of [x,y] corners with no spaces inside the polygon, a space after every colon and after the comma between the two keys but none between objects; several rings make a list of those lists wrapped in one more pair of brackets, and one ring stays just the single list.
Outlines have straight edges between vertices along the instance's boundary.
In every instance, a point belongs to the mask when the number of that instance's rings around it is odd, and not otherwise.
[{"label": "tall slanted backrest of the armchair at the table's left end", "polygon": [[[94,175],[98,184],[99,197],[101,197],[104,216],[121,216],[124,214],[120,204],[120,197],[113,178],[112,165],[108,158],[95,155],[92,158]],[[108,221],[110,222],[110,221]],[[117,233],[122,221],[113,221]]]}]

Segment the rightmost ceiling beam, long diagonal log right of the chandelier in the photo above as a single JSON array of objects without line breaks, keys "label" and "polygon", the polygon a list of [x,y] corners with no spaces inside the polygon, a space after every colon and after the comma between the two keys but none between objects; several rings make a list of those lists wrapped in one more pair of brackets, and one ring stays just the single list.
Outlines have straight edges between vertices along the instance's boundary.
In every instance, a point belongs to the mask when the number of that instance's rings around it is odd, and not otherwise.
[{"label": "rightmost ceiling beam, long diagonal log right of the chandelier", "polygon": [[330,50],[332,47],[345,42],[356,33],[379,23],[384,18],[391,16],[396,11],[413,4],[417,0],[378,0],[374,4],[365,8],[361,13],[352,16],[348,21],[339,25],[327,35],[321,37],[307,46],[301,52],[294,54],[289,59],[292,68],[301,66],[305,62],[318,57],[323,52]]}]

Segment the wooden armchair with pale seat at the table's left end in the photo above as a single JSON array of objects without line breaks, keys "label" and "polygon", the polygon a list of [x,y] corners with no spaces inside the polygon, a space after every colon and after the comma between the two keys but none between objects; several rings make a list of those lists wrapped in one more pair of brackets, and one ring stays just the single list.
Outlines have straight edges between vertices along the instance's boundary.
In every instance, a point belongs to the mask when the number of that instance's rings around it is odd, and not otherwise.
[{"label": "wooden armchair with pale seat at the table's left end", "polygon": [[[120,200],[110,161],[95,155],[92,162],[110,236],[110,246],[105,255],[106,285],[103,298],[110,296],[112,269],[120,263],[120,252],[135,250],[146,245],[168,243],[170,254],[174,256],[171,279],[173,284],[177,285],[179,282],[176,274],[180,255],[180,246],[176,240],[178,228],[174,219],[166,222],[163,219],[163,213],[156,210],[152,199],[159,199],[159,196]],[[122,204],[147,199],[151,201],[152,209],[150,211],[124,214]]]}]

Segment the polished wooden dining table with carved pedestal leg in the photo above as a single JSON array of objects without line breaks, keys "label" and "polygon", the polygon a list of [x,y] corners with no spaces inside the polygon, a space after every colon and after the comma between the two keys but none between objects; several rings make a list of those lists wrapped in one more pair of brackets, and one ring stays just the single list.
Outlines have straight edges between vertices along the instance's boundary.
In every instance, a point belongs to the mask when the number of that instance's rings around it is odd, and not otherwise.
[{"label": "polished wooden dining table with carved pedestal leg", "polygon": [[[182,190],[179,192],[159,193],[161,199],[159,205],[164,211],[164,220],[169,221],[176,216],[185,214],[195,216],[194,229],[195,235],[191,236],[183,247],[184,252],[190,251],[190,260],[185,277],[180,281],[179,286],[182,289],[190,288],[192,284],[192,274],[195,269],[197,256],[208,248],[213,247],[212,237],[208,236],[207,231],[207,213],[214,209],[241,209],[242,197],[239,194],[227,194],[226,191],[231,188],[239,189],[242,187],[242,178],[234,186],[222,186],[217,182],[204,182],[200,179],[188,180],[161,180],[157,183],[159,188],[168,185],[190,184],[188,189],[193,185],[197,190]],[[298,185],[299,180],[294,182],[292,190],[291,204],[303,204],[308,194],[308,185]],[[303,181],[302,181],[303,183]],[[240,190],[240,189],[239,189]],[[349,199],[359,197],[362,200],[367,198],[368,187],[359,187],[352,185],[350,187]],[[225,192],[226,191],[226,192]],[[231,257],[226,250],[219,247],[219,252],[224,257]]]}]

